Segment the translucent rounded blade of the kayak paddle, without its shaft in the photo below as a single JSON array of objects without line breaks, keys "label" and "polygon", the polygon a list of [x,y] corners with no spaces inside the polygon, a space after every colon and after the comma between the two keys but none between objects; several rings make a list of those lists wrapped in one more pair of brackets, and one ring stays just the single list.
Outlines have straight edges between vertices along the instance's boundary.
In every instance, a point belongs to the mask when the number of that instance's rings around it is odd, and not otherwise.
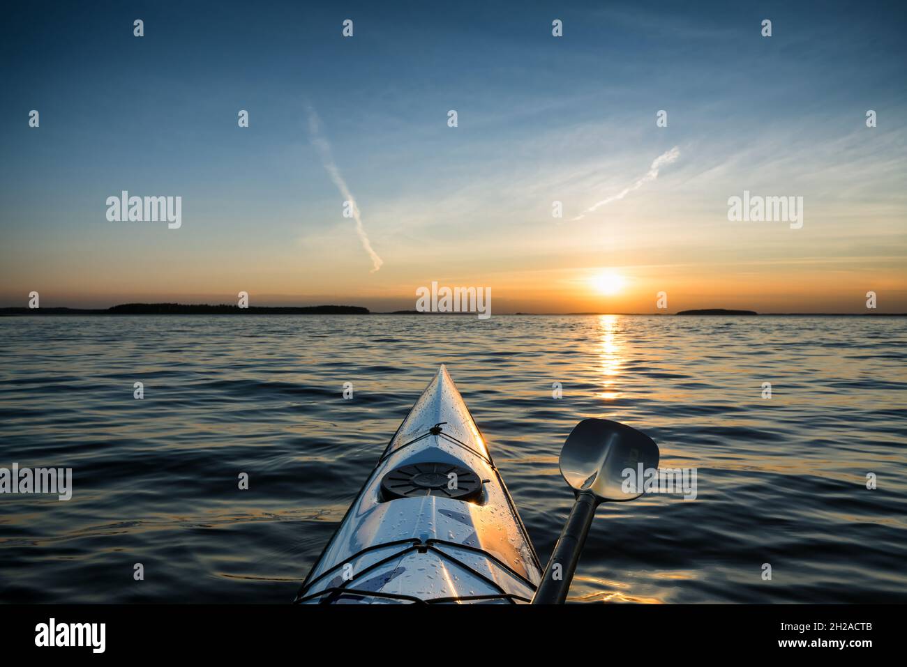
[{"label": "translucent rounded blade of the kayak paddle, without its shaft", "polygon": [[[639,498],[640,463],[643,470],[657,469],[658,445],[619,421],[582,420],[561,449],[561,475],[573,490],[591,490],[599,500]],[[631,478],[624,472],[628,469],[633,471]],[[625,485],[628,479],[638,486]]]}]

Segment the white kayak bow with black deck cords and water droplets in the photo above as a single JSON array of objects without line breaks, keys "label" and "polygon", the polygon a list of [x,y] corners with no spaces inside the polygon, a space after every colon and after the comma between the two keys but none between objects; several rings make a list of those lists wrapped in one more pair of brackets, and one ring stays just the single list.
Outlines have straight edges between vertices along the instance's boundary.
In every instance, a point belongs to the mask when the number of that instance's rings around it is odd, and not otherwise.
[{"label": "white kayak bow with black deck cords and water droplets", "polygon": [[308,573],[299,604],[523,604],[542,569],[444,365]]}]

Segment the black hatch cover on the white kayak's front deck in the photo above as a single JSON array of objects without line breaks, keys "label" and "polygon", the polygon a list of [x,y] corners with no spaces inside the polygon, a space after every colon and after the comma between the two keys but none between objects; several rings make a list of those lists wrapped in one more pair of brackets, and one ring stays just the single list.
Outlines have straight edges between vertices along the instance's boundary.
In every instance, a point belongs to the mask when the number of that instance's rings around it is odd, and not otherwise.
[{"label": "black hatch cover on the white kayak's front deck", "polygon": [[440,496],[473,500],[482,495],[482,482],[472,470],[450,463],[413,463],[388,472],[381,480],[385,500]]}]

